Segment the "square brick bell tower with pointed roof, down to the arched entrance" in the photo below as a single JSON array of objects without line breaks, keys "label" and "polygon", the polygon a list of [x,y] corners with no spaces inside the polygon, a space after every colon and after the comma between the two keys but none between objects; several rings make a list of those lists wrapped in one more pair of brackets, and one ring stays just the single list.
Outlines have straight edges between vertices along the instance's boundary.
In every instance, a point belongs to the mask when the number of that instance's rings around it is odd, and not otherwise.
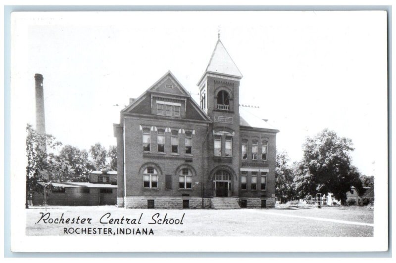
[{"label": "square brick bell tower with pointed roof, down to the arched entrance", "polygon": [[205,72],[198,82],[200,106],[212,120],[203,169],[205,196],[236,197],[239,191],[239,85],[242,74],[218,35]]}]

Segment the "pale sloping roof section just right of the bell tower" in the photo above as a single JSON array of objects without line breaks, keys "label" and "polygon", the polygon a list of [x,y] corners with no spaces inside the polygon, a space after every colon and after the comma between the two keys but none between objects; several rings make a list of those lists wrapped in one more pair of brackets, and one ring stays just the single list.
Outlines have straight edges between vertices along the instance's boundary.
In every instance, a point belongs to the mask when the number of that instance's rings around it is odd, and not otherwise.
[{"label": "pale sloping roof section just right of the bell tower", "polygon": [[260,118],[260,114],[259,108],[239,106],[239,125],[279,132],[279,130],[277,130],[271,124]]}]

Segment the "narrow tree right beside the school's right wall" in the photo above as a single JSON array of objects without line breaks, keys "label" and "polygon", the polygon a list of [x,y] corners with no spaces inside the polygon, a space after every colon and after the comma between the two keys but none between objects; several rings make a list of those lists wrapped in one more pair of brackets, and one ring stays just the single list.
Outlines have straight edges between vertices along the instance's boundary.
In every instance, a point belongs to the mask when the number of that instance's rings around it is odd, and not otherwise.
[{"label": "narrow tree right beside the school's right wall", "polygon": [[280,196],[282,203],[296,196],[293,185],[293,171],[288,163],[289,157],[285,151],[276,152],[275,193]]}]

